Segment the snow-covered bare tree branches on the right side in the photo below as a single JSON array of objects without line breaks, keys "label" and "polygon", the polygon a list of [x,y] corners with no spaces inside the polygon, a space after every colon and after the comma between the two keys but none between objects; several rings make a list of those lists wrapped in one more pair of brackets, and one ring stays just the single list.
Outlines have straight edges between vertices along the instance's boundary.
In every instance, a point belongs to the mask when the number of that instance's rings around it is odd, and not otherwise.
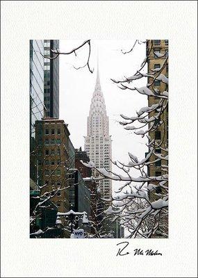
[{"label": "snow-covered bare tree branches on the right side", "polygon": [[[122,90],[131,90],[138,92],[145,97],[155,97],[155,104],[142,107],[136,113],[137,115],[126,116],[121,115],[121,124],[124,129],[132,130],[137,136],[147,136],[147,147],[149,152],[145,158],[138,158],[135,154],[129,153],[128,162],[112,161],[112,163],[122,171],[122,174],[103,169],[97,169],[90,161],[83,163],[85,166],[96,170],[100,174],[100,178],[113,179],[122,181],[123,185],[117,191],[115,196],[110,199],[104,199],[110,206],[106,210],[107,215],[115,215],[120,218],[121,224],[127,229],[129,238],[151,238],[156,234],[163,238],[167,238],[167,213],[168,213],[168,143],[165,136],[166,133],[166,117],[165,111],[168,106],[168,79],[163,74],[167,65],[168,52],[160,54],[154,50],[154,42],[147,40],[146,42],[135,41],[136,43],[145,43],[147,45],[147,56],[140,65],[135,74],[126,77],[123,80],[111,79],[118,84]],[[135,47],[133,45],[130,51],[122,53],[130,53]],[[149,62],[151,57],[163,59],[162,65],[158,68],[149,69],[147,74],[142,70]],[[145,87],[138,88],[135,80],[147,78],[149,83]],[[166,90],[160,92],[155,86],[155,81],[165,84]],[[151,134],[155,131],[163,130],[163,138],[158,140],[153,138]],[[160,152],[159,152],[160,150]],[[150,175],[147,173],[147,167],[161,162],[160,176]],[[131,174],[132,170],[139,172],[138,177]],[[115,209],[117,208],[117,209]]]}]

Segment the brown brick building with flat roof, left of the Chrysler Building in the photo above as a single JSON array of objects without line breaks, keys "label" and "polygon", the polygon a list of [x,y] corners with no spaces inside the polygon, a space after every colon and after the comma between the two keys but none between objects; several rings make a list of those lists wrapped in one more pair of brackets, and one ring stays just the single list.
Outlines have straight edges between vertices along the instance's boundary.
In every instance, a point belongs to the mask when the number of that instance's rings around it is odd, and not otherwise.
[{"label": "brown brick building with flat roof, left of the Chrysler Building", "polygon": [[[57,188],[67,188],[67,168],[70,167],[69,130],[63,120],[45,118],[35,122],[38,184],[43,193]],[[56,192],[56,191],[55,191]],[[61,190],[52,197],[58,212],[69,210],[69,190]]]}]

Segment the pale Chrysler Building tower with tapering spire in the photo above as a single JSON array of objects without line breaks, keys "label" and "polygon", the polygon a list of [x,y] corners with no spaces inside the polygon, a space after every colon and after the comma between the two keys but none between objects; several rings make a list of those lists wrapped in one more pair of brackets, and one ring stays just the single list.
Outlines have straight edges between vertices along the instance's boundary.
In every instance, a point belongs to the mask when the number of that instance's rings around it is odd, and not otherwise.
[{"label": "pale Chrysler Building tower with tapering spire", "polygon": [[[95,167],[111,170],[111,136],[108,131],[108,116],[104,96],[101,92],[99,70],[97,69],[97,81],[92,95],[90,114],[88,116],[87,136],[85,136],[85,151],[94,162]],[[98,181],[101,195],[109,198],[112,193],[111,179]]]}]

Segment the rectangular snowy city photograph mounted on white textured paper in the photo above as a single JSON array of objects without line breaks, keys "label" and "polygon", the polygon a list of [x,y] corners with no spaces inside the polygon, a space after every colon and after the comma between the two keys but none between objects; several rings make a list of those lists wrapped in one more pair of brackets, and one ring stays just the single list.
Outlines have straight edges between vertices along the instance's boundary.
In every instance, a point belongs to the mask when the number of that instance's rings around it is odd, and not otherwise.
[{"label": "rectangular snowy city photograph mounted on white textured paper", "polygon": [[30,238],[168,238],[168,40],[30,40]]}]

